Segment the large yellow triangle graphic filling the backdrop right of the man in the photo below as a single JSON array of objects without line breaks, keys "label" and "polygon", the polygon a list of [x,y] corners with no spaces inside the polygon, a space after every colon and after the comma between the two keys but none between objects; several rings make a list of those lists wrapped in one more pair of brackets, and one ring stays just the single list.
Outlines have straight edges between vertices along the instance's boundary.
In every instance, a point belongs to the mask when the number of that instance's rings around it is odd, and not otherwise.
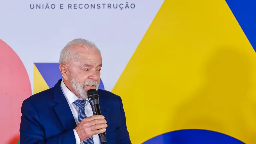
[{"label": "large yellow triangle graphic filling the backdrop right of the man", "polygon": [[225,1],[166,0],[112,92],[132,143],[181,129],[255,143],[255,82],[255,52]]}]

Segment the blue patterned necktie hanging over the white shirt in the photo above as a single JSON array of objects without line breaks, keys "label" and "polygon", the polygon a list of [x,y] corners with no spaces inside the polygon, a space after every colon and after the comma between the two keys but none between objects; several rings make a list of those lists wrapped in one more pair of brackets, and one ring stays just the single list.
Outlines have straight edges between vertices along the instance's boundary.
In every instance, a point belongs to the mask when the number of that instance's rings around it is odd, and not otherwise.
[{"label": "blue patterned necktie hanging over the white shirt", "polygon": [[[87,118],[85,112],[84,112],[84,106],[85,106],[86,100],[76,100],[74,101],[74,104],[79,107],[79,113],[78,113],[78,123],[82,121],[82,119]],[[90,137],[89,139],[83,141],[84,144],[94,144],[93,138]]]}]

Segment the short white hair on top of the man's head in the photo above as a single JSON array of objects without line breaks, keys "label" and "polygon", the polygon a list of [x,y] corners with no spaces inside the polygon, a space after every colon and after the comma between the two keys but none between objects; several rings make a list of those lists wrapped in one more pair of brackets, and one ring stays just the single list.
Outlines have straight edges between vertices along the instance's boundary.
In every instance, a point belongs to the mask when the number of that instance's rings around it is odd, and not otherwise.
[{"label": "short white hair on top of the man's head", "polygon": [[100,50],[97,48],[97,46],[93,43],[90,42],[89,40],[85,40],[82,38],[76,38],[67,43],[67,45],[61,50],[60,52],[60,64],[63,62],[68,62],[71,58],[77,59],[78,55],[74,55],[75,51],[72,51],[69,46],[71,45],[80,45],[83,46],[84,48],[88,49],[93,49],[97,50],[100,53]]}]

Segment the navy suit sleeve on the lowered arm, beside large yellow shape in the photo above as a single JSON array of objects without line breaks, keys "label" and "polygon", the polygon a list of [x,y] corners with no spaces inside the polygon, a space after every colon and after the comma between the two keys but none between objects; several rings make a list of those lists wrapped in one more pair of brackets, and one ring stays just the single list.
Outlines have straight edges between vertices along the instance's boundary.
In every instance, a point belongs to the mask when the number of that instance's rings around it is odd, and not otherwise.
[{"label": "navy suit sleeve on the lowered arm, beside large yellow shape", "polygon": [[118,137],[118,144],[131,144],[130,135],[127,130],[126,126],[126,117],[123,107],[123,102],[121,97],[119,96],[120,100],[120,111],[121,111],[121,120],[122,120],[122,126],[120,127],[120,135]]}]

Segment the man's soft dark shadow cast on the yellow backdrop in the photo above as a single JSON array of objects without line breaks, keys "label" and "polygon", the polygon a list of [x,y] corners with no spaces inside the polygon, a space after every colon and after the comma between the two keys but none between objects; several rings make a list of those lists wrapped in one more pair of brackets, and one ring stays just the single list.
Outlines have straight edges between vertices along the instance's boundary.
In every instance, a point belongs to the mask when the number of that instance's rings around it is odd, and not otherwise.
[{"label": "man's soft dark shadow cast on the yellow backdrop", "polygon": [[[201,90],[177,109],[173,128],[206,129],[239,136],[239,140],[256,140],[256,129],[250,129],[248,124],[248,118],[256,115],[249,93],[252,66],[242,51],[219,49],[205,66]],[[245,114],[245,106],[251,113]]]}]

